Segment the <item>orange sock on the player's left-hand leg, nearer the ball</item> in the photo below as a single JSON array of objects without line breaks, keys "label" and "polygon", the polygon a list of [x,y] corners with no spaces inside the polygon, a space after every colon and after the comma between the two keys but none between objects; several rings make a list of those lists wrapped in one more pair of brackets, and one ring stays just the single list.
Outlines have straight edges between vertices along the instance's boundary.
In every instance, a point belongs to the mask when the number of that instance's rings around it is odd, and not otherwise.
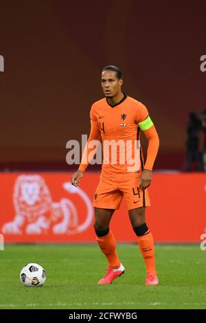
[{"label": "orange sock on the player's left-hand leg, nearer the ball", "polygon": [[100,249],[105,254],[110,267],[119,267],[120,261],[117,256],[115,237],[111,231],[106,236],[97,236]]}]

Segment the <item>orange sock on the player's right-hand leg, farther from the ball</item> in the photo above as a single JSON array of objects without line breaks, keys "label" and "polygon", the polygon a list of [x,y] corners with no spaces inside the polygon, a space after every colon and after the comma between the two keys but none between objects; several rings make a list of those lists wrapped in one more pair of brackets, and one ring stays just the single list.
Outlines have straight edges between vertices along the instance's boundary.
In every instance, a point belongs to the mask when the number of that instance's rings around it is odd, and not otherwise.
[{"label": "orange sock on the player's right-hand leg, farther from the ball", "polygon": [[143,236],[138,236],[139,250],[144,258],[146,270],[157,275],[155,268],[155,246],[153,236],[148,230]]}]

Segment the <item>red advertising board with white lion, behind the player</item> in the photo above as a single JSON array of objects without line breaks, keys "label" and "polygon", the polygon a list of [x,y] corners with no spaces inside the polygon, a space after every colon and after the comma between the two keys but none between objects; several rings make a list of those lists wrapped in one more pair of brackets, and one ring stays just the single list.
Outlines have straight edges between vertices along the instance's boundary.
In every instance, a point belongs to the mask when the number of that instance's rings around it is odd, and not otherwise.
[{"label": "red advertising board with white lion, behind the player", "polygon": [[[80,189],[70,186],[70,178],[69,173],[52,172],[0,174],[0,232],[5,243],[95,241],[91,201],[99,174],[86,173]],[[206,228],[206,174],[154,174],[149,193],[147,223],[156,242],[200,242]],[[19,226],[14,224],[17,214],[24,222]],[[124,201],[111,228],[117,241],[136,241]]]}]

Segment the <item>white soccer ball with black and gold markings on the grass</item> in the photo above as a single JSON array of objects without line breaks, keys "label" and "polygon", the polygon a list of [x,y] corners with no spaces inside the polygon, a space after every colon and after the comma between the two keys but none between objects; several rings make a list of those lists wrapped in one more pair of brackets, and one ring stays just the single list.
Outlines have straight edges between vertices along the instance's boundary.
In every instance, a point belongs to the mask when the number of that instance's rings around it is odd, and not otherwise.
[{"label": "white soccer ball with black and gold markings on the grass", "polygon": [[27,287],[42,286],[46,280],[45,269],[35,263],[27,264],[21,270],[20,280]]}]

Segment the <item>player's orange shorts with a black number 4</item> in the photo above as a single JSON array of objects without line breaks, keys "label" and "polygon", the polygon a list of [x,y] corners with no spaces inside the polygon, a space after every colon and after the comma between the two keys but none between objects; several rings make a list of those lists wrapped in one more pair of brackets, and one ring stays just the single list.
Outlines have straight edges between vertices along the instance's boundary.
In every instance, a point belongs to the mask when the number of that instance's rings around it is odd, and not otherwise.
[{"label": "player's orange shorts with a black number 4", "polygon": [[118,178],[101,174],[100,183],[94,194],[93,206],[118,210],[123,197],[128,210],[150,206],[148,190],[139,189],[139,174],[119,175]]}]

